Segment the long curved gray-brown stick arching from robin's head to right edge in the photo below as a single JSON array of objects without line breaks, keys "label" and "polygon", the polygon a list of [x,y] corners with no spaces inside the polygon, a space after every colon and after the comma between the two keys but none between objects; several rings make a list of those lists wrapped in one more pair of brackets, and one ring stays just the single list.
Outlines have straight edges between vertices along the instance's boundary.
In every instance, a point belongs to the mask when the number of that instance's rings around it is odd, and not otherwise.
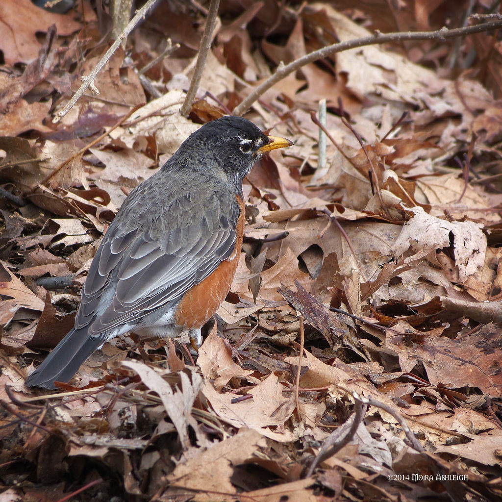
[{"label": "long curved gray-brown stick arching from robin's head to right edge", "polygon": [[305,56],[302,56],[301,58],[296,59],[295,61],[287,65],[280,64],[277,68],[277,71],[271,77],[260,84],[251,94],[249,94],[238,106],[233,109],[233,114],[242,115],[262,94],[268,91],[273,85],[277,84],[277,82],[281,81],[283,78],[287,77],[302,66],[317,61],[318,59],[332,56],[337,52],[356,49],[357,47],[364,47],[366,45],[384,44],[386,42],[404,42],[407,40],[444,40],[452,37],[461,37],[465,35],[472,35],[473,33],[496,30],[497,28],[502,28],[502,21],[482,23],[476,26],[455,28],[453,30],[448,30],[448,28],[443,27],[440,30],[432,32],[397,32],[387,33],[383,35],[379,31],[375,31],[375,33],[373,35],[370,35],[369,37],[356,38],[353,40],[347,40],[345,42],[339,42],[337,44],[329,45],[328,47],[323,47],[322,49],[306,54]]}]

